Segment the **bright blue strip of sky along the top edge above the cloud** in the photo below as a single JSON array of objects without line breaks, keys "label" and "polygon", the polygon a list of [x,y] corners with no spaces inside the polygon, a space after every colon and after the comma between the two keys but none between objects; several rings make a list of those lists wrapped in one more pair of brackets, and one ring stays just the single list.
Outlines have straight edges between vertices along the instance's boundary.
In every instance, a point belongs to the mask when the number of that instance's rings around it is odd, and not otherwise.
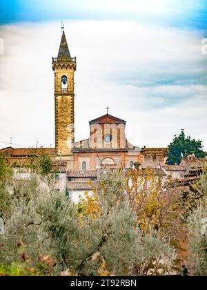
[{"label": "bright blue strip of sky along the top edge above the cloud", "polygon": [[207,30],[207,0],[8,0],[1,3],[0,12],[0,24],[82,19],[190,27],[204,30],[204,34]]}]

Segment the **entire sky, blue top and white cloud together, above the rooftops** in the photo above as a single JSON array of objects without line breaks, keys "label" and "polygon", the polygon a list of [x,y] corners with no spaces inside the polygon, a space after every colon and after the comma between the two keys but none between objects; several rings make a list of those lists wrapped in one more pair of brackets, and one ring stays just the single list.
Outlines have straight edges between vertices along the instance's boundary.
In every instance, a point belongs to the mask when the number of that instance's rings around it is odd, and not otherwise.
[{"label": "entire sky, blue top and white cloud together, above the rooftops", "polygon": [[15,147],[54,146],[61,20],[77,57],[76,141],[109,106],[134,145],[168,146],[184,128],[207,150],[207,0],[3,1],[1,148],[10,137]]}]

